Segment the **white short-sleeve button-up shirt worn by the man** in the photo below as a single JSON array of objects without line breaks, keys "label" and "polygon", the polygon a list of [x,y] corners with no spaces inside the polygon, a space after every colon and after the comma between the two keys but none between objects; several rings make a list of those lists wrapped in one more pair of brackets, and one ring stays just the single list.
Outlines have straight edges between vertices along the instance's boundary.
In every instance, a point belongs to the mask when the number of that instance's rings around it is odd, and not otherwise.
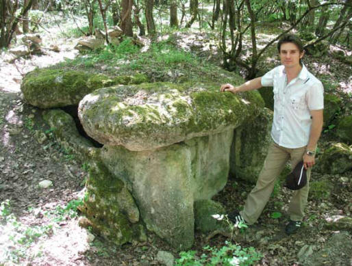
[{"label": "white short-sleeve button-up shirt worn by the man", "polygon": [[323,84],[303,65],[299,75],[286,84],[284,66],[277,66],[262,77],[262,86],[273,86],[274,120],[271,137],[279,146],[307,146],[312,126],[311,110],[324,108]]}]

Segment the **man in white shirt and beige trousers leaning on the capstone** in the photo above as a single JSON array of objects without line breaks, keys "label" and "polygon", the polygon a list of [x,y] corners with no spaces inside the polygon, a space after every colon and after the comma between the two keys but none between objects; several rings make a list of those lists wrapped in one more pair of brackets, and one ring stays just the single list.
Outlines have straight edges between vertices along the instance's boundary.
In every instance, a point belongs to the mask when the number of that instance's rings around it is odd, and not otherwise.
[{"label": "man in white shirt and beige trousers leaning on the capstone", "polygon": [[310,171],[315,163],[316,143],[323,127],[323,84],[302,64],[303,44],[293,34],[283,36],[278,44],[281,66],[263,77],[247,81],[238,87],[221,86],[221,92],[246,92],[262,86],[273,86],[273,142],[269,146],[257,184],[247,197],[243,211],[229,214],[232,222],[254,224],[271,196],[275,181],[290,159],[292,169],[303,160],[307,170],[307,185],[294,191],[286,225],[288,235],[297,232],[307,203]]}]

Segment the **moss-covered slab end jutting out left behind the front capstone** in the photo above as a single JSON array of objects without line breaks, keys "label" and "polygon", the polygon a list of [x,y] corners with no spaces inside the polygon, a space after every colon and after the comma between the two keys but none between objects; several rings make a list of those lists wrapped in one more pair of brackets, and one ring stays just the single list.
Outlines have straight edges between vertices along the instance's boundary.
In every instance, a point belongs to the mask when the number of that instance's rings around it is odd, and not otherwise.
[{"label": "moss-covered slab end jutting out left behind the front capstone", "polygon": [[79,101],[94,90],[116,84],[146,82],[147,76],[121,76],[114,79],[105,75],[77,70],[38,69],[23,79],[21,90],[26,101],[40,108],[78,105]]}]

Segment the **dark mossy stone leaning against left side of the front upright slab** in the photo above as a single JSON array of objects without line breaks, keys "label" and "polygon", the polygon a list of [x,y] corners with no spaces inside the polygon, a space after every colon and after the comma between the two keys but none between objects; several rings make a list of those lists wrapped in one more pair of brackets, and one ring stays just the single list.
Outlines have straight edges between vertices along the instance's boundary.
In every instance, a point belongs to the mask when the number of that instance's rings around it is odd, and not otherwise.
[{"label": "dark mossy stone leaning against left side of the front upright slab", "polygon": [[89,226],[101,237],[123,245],[140,237],[139,211],[120,179],[101,161],[91,161],[84,208]]}]

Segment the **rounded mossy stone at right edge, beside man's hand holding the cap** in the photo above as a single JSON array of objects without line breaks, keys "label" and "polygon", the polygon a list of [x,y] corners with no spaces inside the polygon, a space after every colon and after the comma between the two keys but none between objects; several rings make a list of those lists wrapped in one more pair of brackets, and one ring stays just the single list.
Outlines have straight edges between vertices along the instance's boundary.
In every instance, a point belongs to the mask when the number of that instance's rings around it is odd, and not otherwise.
[{"label": "rounded mossy stone at right edge, beside man's hand holding the cap", "polygon": [[352,148],[344,143],[331,144],[318,161],[318,168],[326,174],[342,174],[352,169]]}]

